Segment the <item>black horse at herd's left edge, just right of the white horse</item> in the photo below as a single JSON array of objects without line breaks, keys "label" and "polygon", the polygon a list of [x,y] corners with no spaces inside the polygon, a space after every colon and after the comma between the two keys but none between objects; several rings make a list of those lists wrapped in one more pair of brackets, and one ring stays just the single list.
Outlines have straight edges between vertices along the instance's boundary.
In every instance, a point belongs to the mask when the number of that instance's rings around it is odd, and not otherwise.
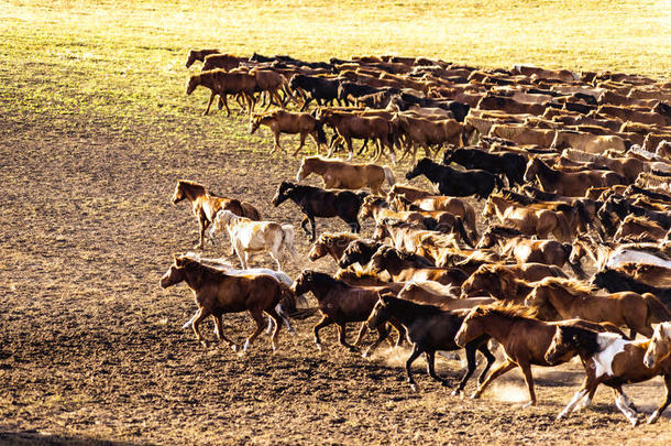
[{"label": "black horse at herd's left edge, just right of the white horse", "polygon": [[366,192],[328,191],[290,182],[282,182],[272,203],[277,207],[287,198],[294,200],[306,215],[300,222],[300,227],[307,235],[310,235],[307,228],[309,221],[312,225],[310,241],[315,241],[317,238],[315,217],[340,217],[344,222],[350,225],[352,231],[359,233],[361,231],[358,218],[359,208],[367,195]]}]

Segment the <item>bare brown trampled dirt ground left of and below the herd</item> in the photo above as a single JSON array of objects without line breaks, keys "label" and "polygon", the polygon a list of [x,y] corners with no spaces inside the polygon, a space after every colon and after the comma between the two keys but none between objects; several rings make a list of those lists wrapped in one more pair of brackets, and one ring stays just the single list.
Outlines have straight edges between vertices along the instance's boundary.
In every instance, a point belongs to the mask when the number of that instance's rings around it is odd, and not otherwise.
[{"label": "bare brown trampled dirt ground left of and below the herd", "polygon": [[[424,372],[413,393],[403,359],[385,349],[363,359],[326,329],[318,352],[315,318],[298,322],[296,337],[283,331],[275,355],[265,336],[244,356],[201,348],[180,328],[196,309],[191,293],[158,287],[172,254],[197,241],[188,205],[169,203],[176,181],[199,181],[297,226],[293,204],[268,202],[298,161],[233,139],[204,145],[199,137],[221,115],[194,118],[183,139],[140,126],[112,130],[96,117],[61,119],[14,116],[2,128],[0,444],[671,440],[669,411],[653,426],[631,428],[604,389],[591,411],[556,423],[582,379],[576,363],[536,368],[540,403],[521,410],[517,372],[480,401],[450,396]],[[327,229],[345,226],[319,219],[318,230]],[[307,254],[307,239],[297,239]],[[300,268],[333,271],[327,260],[305,259]],[[251,328],[246,315],[224,319],[234,339]],[[213,338],[209,322],[204,333]],[[461,365],[440,359],[438,371],[457,379]],[[659,379],[628,389],[648,413],[663,395]]]}]

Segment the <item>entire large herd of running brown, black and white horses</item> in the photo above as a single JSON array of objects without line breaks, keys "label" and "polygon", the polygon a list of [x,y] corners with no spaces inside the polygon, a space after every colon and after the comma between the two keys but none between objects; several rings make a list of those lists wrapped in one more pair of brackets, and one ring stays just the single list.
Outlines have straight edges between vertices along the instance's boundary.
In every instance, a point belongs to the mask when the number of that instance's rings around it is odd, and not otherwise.
[{"label": "entire large herd of running brown, black and white horses", "polygon": [[[305,266],[292,225],[178,181],[172,200],[190,202],[196,249],[226,231],[242,265],[178,254],[162,278],[162,287],[185,282],[193,290],[198,312],[185,327],[198,341],[207,345],[199,325],[211,316],[217,337],[238,349],[221,318],[249,311],[255,329],[243,350],[266,325],[276,349],[279,329],[293,330],[292,318],[319,313],[312,328],[319,349],[329,325],[342,346],[364,356],[385,340],[409,342],[413,389],[411,365],[421,353],[429,376],[451,385],[436,372],[436,353],[464,348],[468,366],[453,394],[465,388],[480,351],[486,365],[472,398],[519,367],[536,404],[531,366],[579,357],[585,380],[558,420],[587,407],[603,383],[636,425],[641,414],[623,384],[657,376],[667,395],[648,422],[669,405],[671,84],[528,66],[485,70],[421,57],[308,63],[202,50],[189,53],[187,67],[196,61],[202,70],[190,76],[187,94],[210,89],[206,113],[219,97],[230,115],[230,95],[249,111],[251,132],[271,128],[275,149],[282,150],[280,133],[300,135],[294,154],[308,134],[318,153],[328,148],[326,157],[304,157],[296,182],[283,181],[271,203],[293,202],[312,242],[308,259],[331,258],[338,268],[334,275],[304,269],[289,278],[282,272],[287,261]],[[260,99],[265,111],[254,113]],[[268,111],[273,105],[278,108]],[[324,129],[333,132],[330,142]],[[400,159],[411,155],[405,178],[425,176],[435,189],[396,184],[392,170],[374,162],[352,163],[352,139],[364,140],[360,154],[372,140],[374,160],[388,155],[396,163],[397,149]],[[342,145],[348,161],[331,157]],[[420,148],[426,156],[415,162]],[[324,187],[301,184],[310,174]],[[334,217],[349,231],[317,237],[316,218]],[[369,218],[375,229],[366,238],[361,220]],[[268,252],[276,270],[250,269],[258,252]],[[309,294],[317,306],[309,306]],[[352,323],[360,328],[350,344]],[[367,330],[377,337],[364,348]],[[504,355],[498,363],[494,347]]]}]

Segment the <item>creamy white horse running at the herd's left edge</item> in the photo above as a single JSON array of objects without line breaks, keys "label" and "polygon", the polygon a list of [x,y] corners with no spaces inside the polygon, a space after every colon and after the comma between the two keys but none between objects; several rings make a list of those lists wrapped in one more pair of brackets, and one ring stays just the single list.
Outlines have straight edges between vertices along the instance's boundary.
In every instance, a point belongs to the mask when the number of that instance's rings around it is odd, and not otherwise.
[{"label": "creamy white horse running at the herd's left edge", "polygon": [[275,221],[254,221],[239,217],[230,210],[220,210],[215,217],[209,232],[210,241],[216,233],[226,227],[233,253],[238,254],[243,269],[249,268],[250,254],[258,251],[268,251],[277,263],[277,271],[282,270],[280,260],[284,261],[284,251],[288,252],[294,262],[298,253],[294,248],[294,226],[280,225]]}]

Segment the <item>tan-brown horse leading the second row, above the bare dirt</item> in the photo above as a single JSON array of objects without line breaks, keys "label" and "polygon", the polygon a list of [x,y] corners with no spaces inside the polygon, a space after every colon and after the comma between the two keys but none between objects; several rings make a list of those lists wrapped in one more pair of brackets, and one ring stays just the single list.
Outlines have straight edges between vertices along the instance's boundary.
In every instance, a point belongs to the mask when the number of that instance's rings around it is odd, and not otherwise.
[{"label": "tan-brown horse leading the second row, above the bare dirt", "polygon": [[319,148],[327,143],[327,137],[321,123],[310,113],[293,113],[285,110],[275,110],[270,113],[252,115],[250,118],[250,134],[254,134],[261,126],[270,127],[275,137],[275,145],[271,153],[275,152],[277,149],[284,152],[284,149],[279,145],[279,133],[300,134],[300,144],[294,152],[294,156],[296,156],[305,145],[305,140],[308,134],[315,140],[318,153]]}]

